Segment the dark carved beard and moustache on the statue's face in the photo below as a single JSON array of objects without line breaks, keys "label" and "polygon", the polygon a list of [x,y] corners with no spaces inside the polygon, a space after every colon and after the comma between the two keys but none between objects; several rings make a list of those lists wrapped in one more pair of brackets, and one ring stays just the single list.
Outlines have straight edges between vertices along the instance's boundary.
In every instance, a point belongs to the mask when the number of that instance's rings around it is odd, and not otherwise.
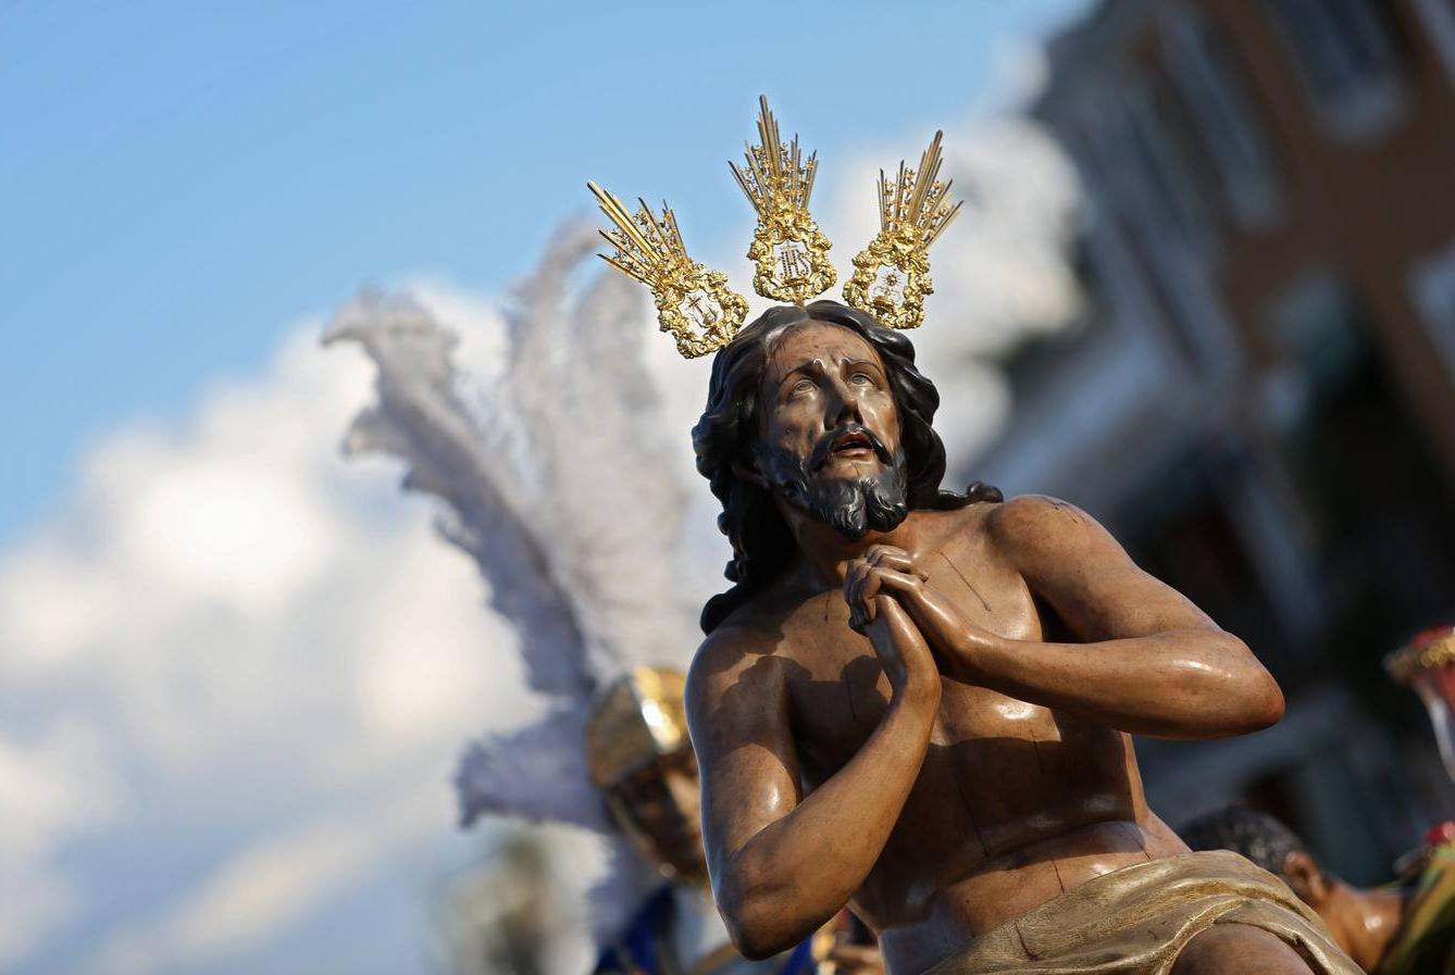
[{"label": "dark carved beard and moustache on the statue's face", "polygon": [[[828,461],[829,448],[850,432],[869,438],[883,467],[877,474],[847,480],[824,477],[819,471]],[[870,528],[890,531],[909,515],[904,450],[890,454],[877,437],[858,423],[845,423],[825,434],[806,461],[789,451],[768,451],[760,458],[760,467],[784,501],[828,522],[845,538],[857,541]]]}]

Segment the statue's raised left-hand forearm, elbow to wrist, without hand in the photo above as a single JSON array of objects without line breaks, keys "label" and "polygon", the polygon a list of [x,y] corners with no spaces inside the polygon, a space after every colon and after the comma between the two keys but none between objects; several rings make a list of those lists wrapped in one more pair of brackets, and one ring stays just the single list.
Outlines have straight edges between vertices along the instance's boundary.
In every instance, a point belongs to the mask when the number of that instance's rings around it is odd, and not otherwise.
[{"label": "statue's raised left-hand forearm, elbow to wrist, without hand", "polygon": [[896,693],[854,758],[728,859],[716,896],[739,950],[765,958],[797,944],[863,885],[920,774],[937,707],[937,687]]}]

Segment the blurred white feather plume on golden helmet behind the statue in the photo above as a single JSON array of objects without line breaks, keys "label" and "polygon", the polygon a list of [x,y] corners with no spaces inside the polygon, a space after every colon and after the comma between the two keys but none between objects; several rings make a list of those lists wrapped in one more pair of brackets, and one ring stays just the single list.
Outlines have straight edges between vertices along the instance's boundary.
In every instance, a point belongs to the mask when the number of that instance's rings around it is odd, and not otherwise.
[{"label": "blurred white feather plume on golden helmet behind the statue", "polygon": [[519,636],[540,722],[470,742],[455,773],[461,821],[485,813],[569,822],[602,835],[611,867],[591,895],[614,933],[661,879],[615,834],[585,765],[592,694],[634,664],[685,668],[697,634],[678,592],[684,485],[645,364],[640,295],[614,275],[572,292],[595,234],[556,234],[506,313],[505,367],[476,386],[454,333],[407,295],[367,292],[326,342],[358,342],[377,402],[346,451],[393,454],[404,486],[444,502],[441,534],[467,552]]}]

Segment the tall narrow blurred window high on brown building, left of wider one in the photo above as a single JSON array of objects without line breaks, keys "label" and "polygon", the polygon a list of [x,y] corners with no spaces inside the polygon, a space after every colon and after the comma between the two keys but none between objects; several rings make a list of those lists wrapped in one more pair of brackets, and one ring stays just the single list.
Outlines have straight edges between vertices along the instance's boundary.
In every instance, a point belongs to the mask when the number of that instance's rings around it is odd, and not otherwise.
[{"label": "tall narrow blurred window high on brown building, left of wider one", "polygon": [[1227,38],[1187,9],[1168,16],[1164,36],[1167,71],[1218,169],[1237,223],[1272,224],[1279,201],[1267,137]]}]

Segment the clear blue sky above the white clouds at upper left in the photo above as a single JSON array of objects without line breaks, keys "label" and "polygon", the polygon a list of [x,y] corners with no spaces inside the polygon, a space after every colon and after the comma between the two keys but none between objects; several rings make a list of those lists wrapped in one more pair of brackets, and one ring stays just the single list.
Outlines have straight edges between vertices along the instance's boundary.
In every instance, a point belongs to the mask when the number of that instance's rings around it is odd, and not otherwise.
[{"label": "clear blue sky above the white clouds at upper left", "polygon": [[499,291],[588,178],[668,196],[694,249],[745,236],[760,92],[832,164],[1083,6],[0,3],[0,540],[103,431],[364,282]]}]

